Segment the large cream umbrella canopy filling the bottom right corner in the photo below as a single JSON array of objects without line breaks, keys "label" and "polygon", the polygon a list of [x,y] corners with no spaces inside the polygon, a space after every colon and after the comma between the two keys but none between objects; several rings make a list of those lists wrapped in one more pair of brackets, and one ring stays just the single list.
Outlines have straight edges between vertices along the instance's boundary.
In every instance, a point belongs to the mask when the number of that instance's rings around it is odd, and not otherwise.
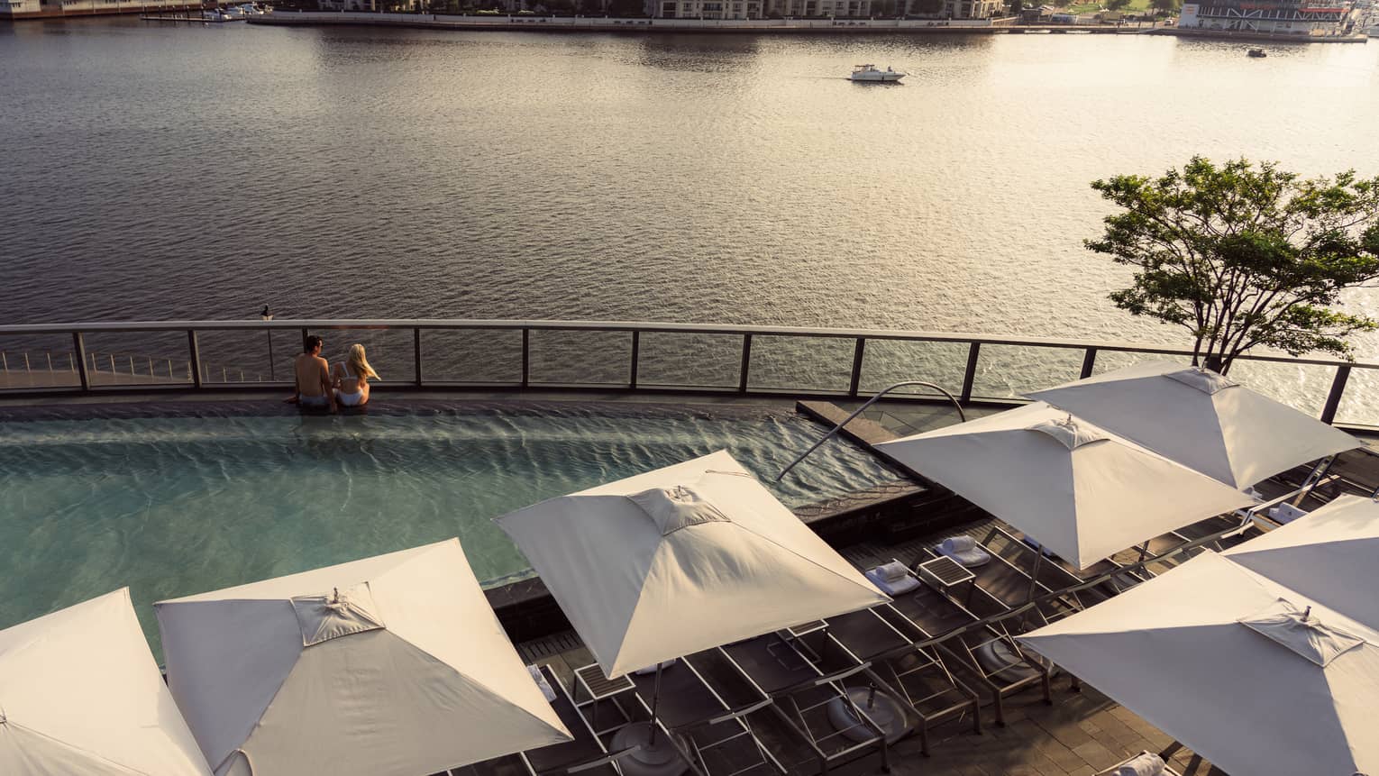
[{"label": "large cream umbrella canopy filling the bottom right corner", "polygon": [[1379,633],[1215,553],[1019,638],[1227,773],[1379,772]]}]

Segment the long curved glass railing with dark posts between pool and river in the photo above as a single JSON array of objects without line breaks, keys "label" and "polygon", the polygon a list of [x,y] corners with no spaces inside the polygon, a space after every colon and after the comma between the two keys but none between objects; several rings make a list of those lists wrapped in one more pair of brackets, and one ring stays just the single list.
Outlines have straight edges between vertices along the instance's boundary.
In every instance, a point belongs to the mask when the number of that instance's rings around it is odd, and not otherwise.
[{"label": "long curved glass railing with dark posts between pool and river", "polygon": [[[142,321],[0,327],[0,394],[291,385],[308,335],[363,343],[381,386],[866,397],[923,379],[963,402],[1182,347],[887,329],[517,320]],[[1328,423],[1379,426],[1379,364],[1249,354],[1231,376]],[[938,394],[900,393],[932,400]]]}]

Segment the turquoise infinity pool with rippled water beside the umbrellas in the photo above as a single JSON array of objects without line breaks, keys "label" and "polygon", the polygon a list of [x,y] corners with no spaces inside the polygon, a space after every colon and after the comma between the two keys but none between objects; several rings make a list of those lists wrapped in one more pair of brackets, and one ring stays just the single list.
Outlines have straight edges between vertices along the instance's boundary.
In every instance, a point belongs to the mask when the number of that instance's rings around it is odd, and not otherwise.
[{"label": "turquoise infinity pool with rippled water beside the umbrellas", "polygon": [[[128,584],[153,601],[459,536],[474,573],[530,573],[490,518],[716,449],[787,506],[895,474],[787,412],[415,404],[367,416],[138,408],[0,419],[0,629]],[[172,412],[174,416],[160,416]]]}]

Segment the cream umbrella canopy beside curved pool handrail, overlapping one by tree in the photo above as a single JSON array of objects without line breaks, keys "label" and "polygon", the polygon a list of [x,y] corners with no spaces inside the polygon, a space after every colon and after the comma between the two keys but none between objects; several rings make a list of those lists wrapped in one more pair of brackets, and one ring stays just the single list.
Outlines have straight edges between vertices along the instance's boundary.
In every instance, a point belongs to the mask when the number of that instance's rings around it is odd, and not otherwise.
[{"label": "cream umbrella canopy beside curved pool handrail, overlapping one by tree", "polygon": [[1040,402],[877,447],[1077,568],[1254,503]]}]

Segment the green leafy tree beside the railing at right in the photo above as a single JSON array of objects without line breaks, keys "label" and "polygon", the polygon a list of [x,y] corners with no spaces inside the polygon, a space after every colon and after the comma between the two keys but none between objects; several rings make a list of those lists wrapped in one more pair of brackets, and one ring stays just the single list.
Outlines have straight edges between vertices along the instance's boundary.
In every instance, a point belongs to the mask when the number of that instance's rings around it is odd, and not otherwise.
[{"label": "green leafy tree beside the railing at right", "polygon": [[1303,181],[1274,163],[1193,157],[1162,178],[1092,187],[1124,211],[1087,248],[1136,267],[1110,299],[1186,327],[1193,364],[1225,374],[1255,346],[1350,358],[1345,338],[1376,327],[1332,305],[1379,277],[1379,178]]}]

